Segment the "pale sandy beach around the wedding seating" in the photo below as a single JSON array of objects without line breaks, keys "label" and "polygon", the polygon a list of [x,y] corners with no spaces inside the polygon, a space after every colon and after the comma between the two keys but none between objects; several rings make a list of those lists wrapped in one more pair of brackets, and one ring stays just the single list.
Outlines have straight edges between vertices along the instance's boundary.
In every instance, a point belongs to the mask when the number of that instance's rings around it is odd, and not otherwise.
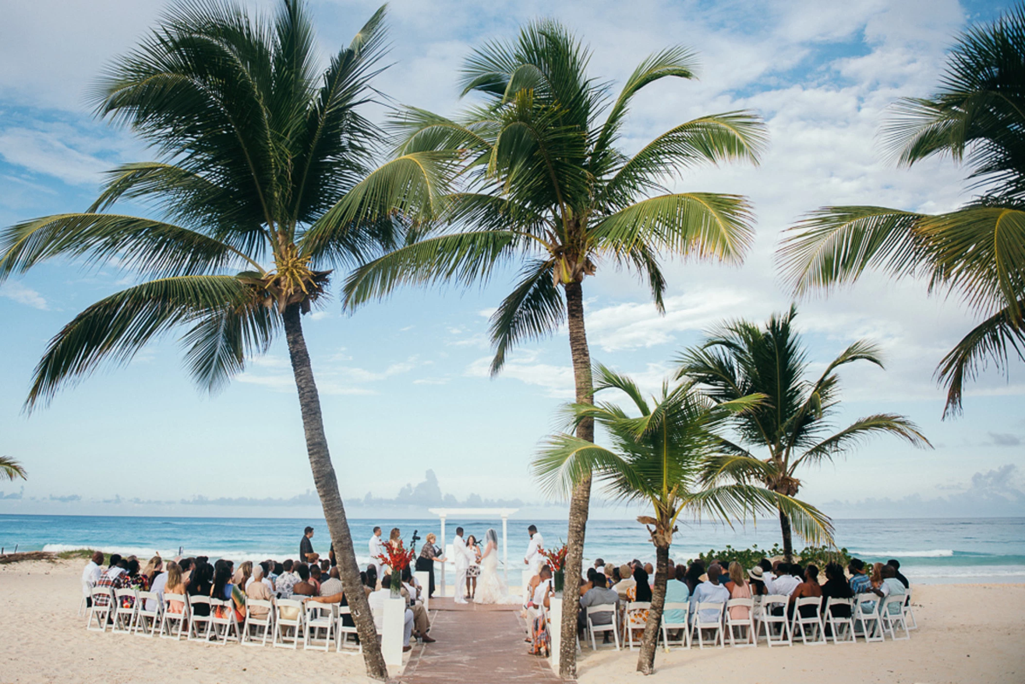
[{"label": "pale sandy beach around the wedding seating", "polygon": [[[83,562],[0,566],[0,684],[9,682],[365,682],[359,656],[174,642],[87,632],[77,614]],[[735,681],[744,684],[921,684],[1025,680],[1025,585],[916,586],[919,629],[910,641],[792,648],[659,652],[658,672],[634,672],[637,653],[585,648],[581,684]],[[393,673],[401,681],[401,674]],[[482,673],[486,681],[486,673]],[[474,684],[464,682],[463,684]],[[490,682],[489,684],[496,684]]]}]

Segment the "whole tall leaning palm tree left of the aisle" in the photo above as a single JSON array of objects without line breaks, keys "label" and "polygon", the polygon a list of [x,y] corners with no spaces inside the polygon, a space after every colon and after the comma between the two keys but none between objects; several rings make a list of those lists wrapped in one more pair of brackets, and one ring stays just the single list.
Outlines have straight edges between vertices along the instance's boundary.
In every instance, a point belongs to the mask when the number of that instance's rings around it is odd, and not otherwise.
[{"label": "whole tall leaning palm tree left of the aisle", "polygon": [[[359,567],[301,315],[323,297],[327,268],[374,253],[394,231],[391,220],[322,220],[372,168],[379,132],[359,112],[373,94],[383,19],[382,7],[321,72],[300,0],[257,16],[227,1],[174,6],[95,91],[98,116],[130,127],[157,160],[112,171],[84,213],[44,216],[0,236],[0,278],[72,256],[120,259],[140,280],[53,337],[30,410],[105,361],[127,363],[171,328],[182,330],[193,379],[213,392],[284,331],[310,466],[347,588],[360,586]],[[149,202],[161,219],[106,211],[122,198]],[[348,600],[367,672],[386,679],[366,597]]]}]

